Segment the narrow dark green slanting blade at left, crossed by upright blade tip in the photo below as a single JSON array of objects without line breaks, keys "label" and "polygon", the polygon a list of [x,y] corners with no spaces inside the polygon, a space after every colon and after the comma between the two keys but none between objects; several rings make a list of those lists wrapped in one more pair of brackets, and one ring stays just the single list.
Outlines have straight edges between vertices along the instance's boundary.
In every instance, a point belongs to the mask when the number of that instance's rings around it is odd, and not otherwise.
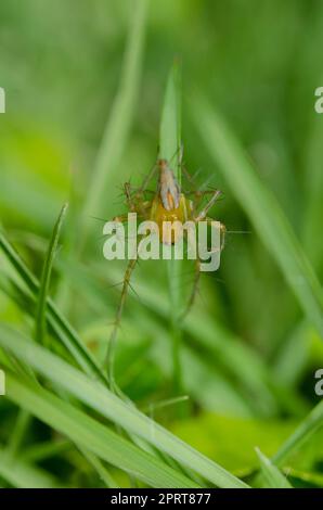
[{"label": "narrow dark green slanting blade at left, crossed by upright blade tip", "polygon": [[[0,250],[5,255],[9,263],[15,268],[17,275],[27,285],[34,297],[39,294],[39,282],[31,273],[25,263],[22,260],[14,247],[9,243],[4,234],[0,231]],[[57,337],[73,355],[78,365],[93,374],[101,381],[106,382],[106,375],[99,367],[91,353],[88,350],[83,342],[78,337],[74,328],[68,323],[64,316],[57,310],[52,299],[48,298],[49,322],[54,329]]]}]

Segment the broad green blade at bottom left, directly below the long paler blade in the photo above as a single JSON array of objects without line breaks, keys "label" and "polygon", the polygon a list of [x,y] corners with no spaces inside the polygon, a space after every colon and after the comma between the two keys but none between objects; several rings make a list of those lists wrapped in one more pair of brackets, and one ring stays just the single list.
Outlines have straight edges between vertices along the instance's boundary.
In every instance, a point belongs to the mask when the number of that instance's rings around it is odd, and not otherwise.
[{"label": "broad green blade at bottom left, directly below the long paler blade", "polygon": [[196,486],[156,457],[140,450],[50,392],[26,384],[11,373],[7,373],[7,395],[11,400],[101,459],[155,487]]}]

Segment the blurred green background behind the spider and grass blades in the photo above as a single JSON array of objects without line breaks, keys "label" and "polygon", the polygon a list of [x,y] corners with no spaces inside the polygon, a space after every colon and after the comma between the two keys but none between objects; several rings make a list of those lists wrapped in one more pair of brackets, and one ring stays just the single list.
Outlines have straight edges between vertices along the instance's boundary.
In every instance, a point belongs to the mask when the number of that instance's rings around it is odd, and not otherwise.
[{"label": "blurred green background behind the spider and grass blades", "polygon": [[[175,390],[168,288],[163,263],[141,263],[133,277],[117,346],[116,374],[142,410],[238,476],[258,466],[255,446],[276,452],[320,401],[314,372],[323,344],[307,321],[225,177],[205,150],[191,102],[207,98],[221,112],[292,224],[316,275],[323,270],[323,4],[314,0],[165,0],[148,7],[139,87],[129,106],[120,157],[111,165],[103,205],[82,212],[103,132],[122,82],[124,54],[135,2],[2,0],[0,86],[1,225],[40,277],[53,225],[67,219],[50,294],[92,353],[102,359],[125,264],[102,256],[102,222],[125,211],[120,186],[140,182],[154,165],[164,90],[175,56],[182,62],[184,160],[197,186],[221,189],[212,216],[229,233],[219,271],[203,275],[181,333],[180,387]],[[119,119],[124,122],[122,119]],[[116,137],[120,131],[116,123]],[[108,154],[107,154],[108,161]],[[270,215],[271,212],[268,211]],[[230,233],[246,232],[246,233]],[[33,313],[5,292],[1,263],[0,320],[30,334]],[[183,272],[189,295],[193,268]],[[172,405],[173,396],[189,398]],[[159,403],[159,407],[158,407]],[[162,404],[160,404],[162,403]],[[17,407],[1,397],[0,442],[10,444]],[[295,486],[323,486],[323,442],[316,433],[283,468]],[[33,457],[37,445],[56,450]],[[61,448],[61,450],[60,450]],[[20,454],[55,475],[59,485],[100,486],[74,445],[36,419]],[[30,454],[31,451],[31,454]],[[131,481],[114,470],[118,483]],[[1,470],[1,485],[15,485]],[[16,485],[20,485],[16,483]]]}]

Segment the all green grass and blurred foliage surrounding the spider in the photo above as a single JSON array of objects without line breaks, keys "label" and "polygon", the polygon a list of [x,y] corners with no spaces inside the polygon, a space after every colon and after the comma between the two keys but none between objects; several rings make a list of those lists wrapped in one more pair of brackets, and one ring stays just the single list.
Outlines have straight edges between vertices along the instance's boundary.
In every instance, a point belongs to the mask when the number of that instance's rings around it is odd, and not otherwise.
[{"label": "all green grass and blurred foliage surrounding the spider", "polygon": [[[323,487],[323,5],[3,0],[0,24],[0,486]],[[158,155],[192,187],[181,144],[223,191],[221,267],[181,320],[194,263],[140,262],[115,394],[103,222]]]}]

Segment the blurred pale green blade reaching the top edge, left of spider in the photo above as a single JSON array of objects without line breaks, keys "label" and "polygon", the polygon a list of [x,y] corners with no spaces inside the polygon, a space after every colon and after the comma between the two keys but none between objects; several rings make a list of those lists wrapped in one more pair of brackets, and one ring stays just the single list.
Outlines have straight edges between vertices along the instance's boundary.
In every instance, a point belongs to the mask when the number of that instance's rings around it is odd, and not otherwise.
[{"label": "blurred pale green blade reaching the top edge, left of spider", "polygon": [[127,144],[137,104],[148,0],[135,0],[133,3],[119,89],[105,127],[83,207],[85,238],[88,232],[89,216],[94,214],[100,216],[106,190],[118,175],[118,163]]}]

